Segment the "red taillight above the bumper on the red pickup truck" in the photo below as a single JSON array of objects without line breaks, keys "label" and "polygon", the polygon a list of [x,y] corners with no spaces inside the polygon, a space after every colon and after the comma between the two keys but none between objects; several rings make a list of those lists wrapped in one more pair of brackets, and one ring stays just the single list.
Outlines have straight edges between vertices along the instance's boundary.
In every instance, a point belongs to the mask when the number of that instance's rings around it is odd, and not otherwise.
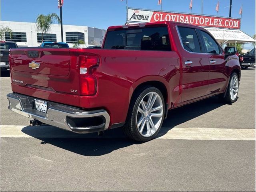
[{"label": "red taillight above the bumper on the red pickup truck", "polygon": [[97,56],[79,56],[81,95],[96,94],[97,78],[92,74],[92,69],[99,65],[99,61]]}]

